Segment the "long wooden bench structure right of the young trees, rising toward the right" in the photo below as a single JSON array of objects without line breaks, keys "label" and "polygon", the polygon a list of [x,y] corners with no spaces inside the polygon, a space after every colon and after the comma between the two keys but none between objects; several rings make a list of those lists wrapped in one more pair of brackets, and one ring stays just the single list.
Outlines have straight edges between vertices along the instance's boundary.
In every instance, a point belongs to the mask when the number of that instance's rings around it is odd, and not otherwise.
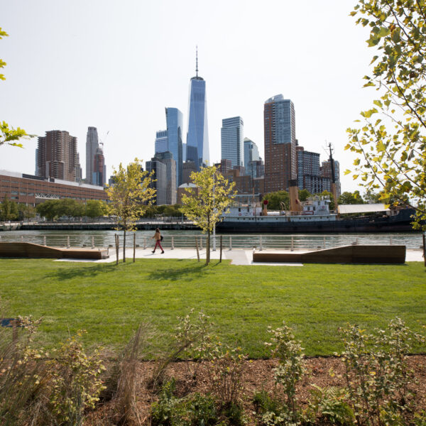
[{"label": "long wooden bench structure right of the young trees, rising toward the right", "polygon": [[405,263],[405,246],[350,245],[304,252],[256,251],[253,262]]}]

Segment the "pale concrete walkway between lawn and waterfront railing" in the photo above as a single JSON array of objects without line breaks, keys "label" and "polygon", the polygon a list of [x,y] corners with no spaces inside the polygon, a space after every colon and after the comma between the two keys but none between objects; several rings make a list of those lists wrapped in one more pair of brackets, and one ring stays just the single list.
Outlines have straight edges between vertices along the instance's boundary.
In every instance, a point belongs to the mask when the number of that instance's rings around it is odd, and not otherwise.
[{"label": "pale concrete walkway between lawn and waterfront railing", "polygon": [[[211,251],[210,259],[212,261],[219,260],[220,251]],[[123,258],[123,249],[120,250],[119,259]],[[166,249],[164,254],[161,254],[160,250],[151,252],[151,249],[136,249],[136,258],[138,259],[155,259],[155,260],[167,260],[167,259],[193,259],[197,260],[197,251],[195,249]],[[200,250],[200,261],[205,260],[206,251],[205,249]],[[233,265],[268,265],[268,266],[302,266],[302,263],[253,263],[253,251],[252,250],[224,250],[222,251],[222,259],[230,260]],[[126,249],[126,260],[132,261],[133,249]],[[90,263],[111,263],[116,261],[116,254],[114,249],[109,249],[109,258],[102,260],[79,260],[79,259],[58,259],[58,262],[90,262]],[[421,250],[407,250],[405,256],[407,262],[422,262],[422,251]]]}]

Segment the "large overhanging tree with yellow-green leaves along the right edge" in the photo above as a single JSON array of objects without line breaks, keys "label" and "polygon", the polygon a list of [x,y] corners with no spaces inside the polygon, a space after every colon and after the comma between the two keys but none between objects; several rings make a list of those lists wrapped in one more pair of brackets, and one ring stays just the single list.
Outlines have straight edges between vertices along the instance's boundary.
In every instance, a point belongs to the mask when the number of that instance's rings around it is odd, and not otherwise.
[{"label": "large overhanging tree with yellow-green leaves along the right edge", "polygon": [[376,55],[364,87],[381,94],[361,112],[360,127],[348,129],[346,149],[359,155],[353,178],[380,189],[382,200],[413,207],[418,229],[426,219],[426,4],[359,0],[351,15],[370,27]]}]

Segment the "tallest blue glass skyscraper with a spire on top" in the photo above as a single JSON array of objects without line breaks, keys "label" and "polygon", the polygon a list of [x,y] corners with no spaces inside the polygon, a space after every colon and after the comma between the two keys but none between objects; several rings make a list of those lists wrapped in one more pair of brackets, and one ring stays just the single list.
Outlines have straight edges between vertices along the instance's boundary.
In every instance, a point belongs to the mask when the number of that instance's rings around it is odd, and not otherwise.
[{"label": "tallest blue glass skyscraper with a spire on top", "polygon": [[197,170],[209,163],[209,134],[207,130],[206,82],[198,76],[198,54],[196,75],[190,82],[188,104],[187,161],[194,161]]}]

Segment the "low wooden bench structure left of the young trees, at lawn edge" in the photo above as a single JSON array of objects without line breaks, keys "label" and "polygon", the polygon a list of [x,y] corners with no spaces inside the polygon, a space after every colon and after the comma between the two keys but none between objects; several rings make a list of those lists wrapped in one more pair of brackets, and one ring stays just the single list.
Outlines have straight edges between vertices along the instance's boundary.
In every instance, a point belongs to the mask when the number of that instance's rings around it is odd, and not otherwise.
[{"label": "low wooden bench structure left of the young trees, at lawn edge", "polygon": [[55,258],[55,259],[106,259],[107,249],[65,249],[40,246],[33,243],[1,243],[0,257],[13,258]]}]

